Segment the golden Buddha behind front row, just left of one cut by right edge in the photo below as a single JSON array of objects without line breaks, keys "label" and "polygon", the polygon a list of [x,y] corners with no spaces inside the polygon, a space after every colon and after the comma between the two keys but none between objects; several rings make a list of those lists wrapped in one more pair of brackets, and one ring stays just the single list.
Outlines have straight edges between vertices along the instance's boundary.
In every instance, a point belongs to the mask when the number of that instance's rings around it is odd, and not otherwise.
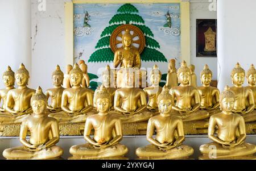
[{"label": "golden Buddha behind front row, just left of one cut by right edge", "polygon": [[253,91],[248,87],[242,86],[245,81],[245,70],[241,68],[239,63],[232,69],[231,78],[234,86],[230,87],[230,90],[234,91],[234,94],[236,95],[232,112],[242,115],[245,122],[256,120]]}]

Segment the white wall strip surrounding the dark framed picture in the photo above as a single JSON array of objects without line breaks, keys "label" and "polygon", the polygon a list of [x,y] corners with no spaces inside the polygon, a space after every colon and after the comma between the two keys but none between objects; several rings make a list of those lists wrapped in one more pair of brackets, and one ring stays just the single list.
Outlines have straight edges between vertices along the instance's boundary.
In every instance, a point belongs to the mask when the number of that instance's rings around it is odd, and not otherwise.
[{"label": "white wall strip surrounding the dark framed picture", "polygon": [[212,70],[213,80],[217,80],[217,57],[196,57],[196,19],[216,19],[217,12],[209,11],[208,0],[191,0],[190,2],[190,61],[196,66],[197,86],[200,86],[200,72],[205,64],[208,64]]}]

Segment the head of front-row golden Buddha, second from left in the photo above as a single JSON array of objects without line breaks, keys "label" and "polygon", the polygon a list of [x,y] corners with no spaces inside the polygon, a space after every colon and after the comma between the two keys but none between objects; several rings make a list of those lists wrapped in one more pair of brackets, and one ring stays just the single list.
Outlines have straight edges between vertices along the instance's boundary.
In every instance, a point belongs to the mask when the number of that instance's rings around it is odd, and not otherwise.
[{"label": "head of front-row golden Buddha, second from left", "polygon": [[94,97],[96,101],[97,111],[107,112],[110,107],[110,94],[106,90],[104,85],[101,85],[100,91],[97,91],[96,96]]}]

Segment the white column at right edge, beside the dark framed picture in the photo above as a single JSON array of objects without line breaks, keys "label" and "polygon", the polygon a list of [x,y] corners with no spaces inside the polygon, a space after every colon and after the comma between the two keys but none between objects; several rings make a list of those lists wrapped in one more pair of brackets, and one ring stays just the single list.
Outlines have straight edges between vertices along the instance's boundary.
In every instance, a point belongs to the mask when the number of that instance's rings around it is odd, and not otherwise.
[{"label": "white column at right edge, beside the dark framed picture", "polygon": [[[217,1],[218,88],[232,85],[231,70],[237,62],[243,69],[256,65],[256,1]],[[244,86],[246,86],[246,80]]]}]

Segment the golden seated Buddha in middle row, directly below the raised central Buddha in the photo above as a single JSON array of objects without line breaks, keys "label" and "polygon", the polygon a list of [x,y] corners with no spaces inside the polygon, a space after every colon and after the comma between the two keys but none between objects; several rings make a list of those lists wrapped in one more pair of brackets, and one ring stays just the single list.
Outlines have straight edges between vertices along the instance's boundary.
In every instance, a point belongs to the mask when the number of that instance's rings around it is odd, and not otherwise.
[{"label": "golden seated Buddha in middle row, directly below the raised central Buddha", "polygon": [[124,134],[139,134],[139,130],[146,130],[147,120],[155,112],[147,110],[146,94],[142,89],[134,87],[134,73],[128,71],[124,74],[124,87],[117,89],[114,96],[114,115],[122,123]]}]

